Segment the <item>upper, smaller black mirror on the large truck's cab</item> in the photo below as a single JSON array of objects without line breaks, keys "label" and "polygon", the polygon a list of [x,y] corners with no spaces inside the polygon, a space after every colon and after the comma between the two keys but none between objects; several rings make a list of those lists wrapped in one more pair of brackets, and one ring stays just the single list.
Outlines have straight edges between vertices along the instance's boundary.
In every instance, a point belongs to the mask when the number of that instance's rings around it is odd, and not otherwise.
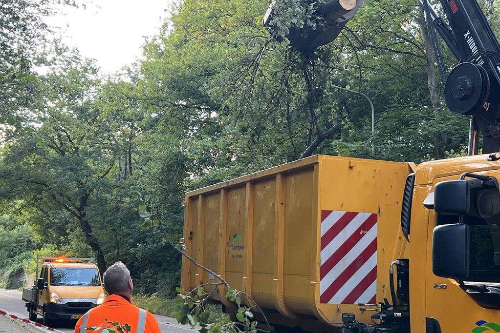
[{"label": "upper, smaller black mirror on the large truck's cab", "polygon": [[438,182],[434,186],[434,210],[441,214],[467,214],[470,208],[469,187],[463,179]]}]

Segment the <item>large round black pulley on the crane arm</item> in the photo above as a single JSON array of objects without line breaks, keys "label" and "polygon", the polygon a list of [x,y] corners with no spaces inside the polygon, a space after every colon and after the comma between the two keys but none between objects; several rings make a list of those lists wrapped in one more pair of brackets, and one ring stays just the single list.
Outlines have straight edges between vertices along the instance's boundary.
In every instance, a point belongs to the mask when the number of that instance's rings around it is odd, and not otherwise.
[{"label": "large round black pulley on the crane arm", "polygon": [[482,107],[489,94],[489,77],[484,67],[462,62],[449,73],[444,85],[444,100],[450,111],[472,115]]}]

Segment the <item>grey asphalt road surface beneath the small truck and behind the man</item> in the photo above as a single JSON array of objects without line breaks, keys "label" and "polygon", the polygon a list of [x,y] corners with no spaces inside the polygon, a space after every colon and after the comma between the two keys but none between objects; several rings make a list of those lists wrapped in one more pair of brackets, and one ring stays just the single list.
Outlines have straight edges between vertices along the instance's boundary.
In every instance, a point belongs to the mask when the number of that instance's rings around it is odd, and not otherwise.
[{"label": "grey asphalt road surface beneath the small truck and behind the man", "polygon": [[[0,308],[21,318],[28,317],[24,302],[21,300],[21,292],[17,290],[0,289]],[[174,318],[159,315],[155,315],[154,317],[156,317],[162,333],[197,332],[196,328],[191,329],[189,326],[177,325],[177,321]],[[41,318],[38,317],[37,321],[41,323]],[[76,322],[73,321],[61,322],[52,328],[66,333],[72,333],[75,324]]]}]

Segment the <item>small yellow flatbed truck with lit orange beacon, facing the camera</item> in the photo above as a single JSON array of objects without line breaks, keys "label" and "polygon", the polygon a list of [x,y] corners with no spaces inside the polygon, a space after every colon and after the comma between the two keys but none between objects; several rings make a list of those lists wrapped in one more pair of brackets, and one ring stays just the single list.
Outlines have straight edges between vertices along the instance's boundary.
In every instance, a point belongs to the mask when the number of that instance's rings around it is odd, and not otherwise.
[{"label": "small yellow flatbed truck with lit orange beacon, facing the camera", "polygon": [[35,276],[34,285],[23,288],[22,300],[29,319],[41,315],[45,326],[55,320],[79,319],[105,297],[99,269],[91,258],[37,257]]}]

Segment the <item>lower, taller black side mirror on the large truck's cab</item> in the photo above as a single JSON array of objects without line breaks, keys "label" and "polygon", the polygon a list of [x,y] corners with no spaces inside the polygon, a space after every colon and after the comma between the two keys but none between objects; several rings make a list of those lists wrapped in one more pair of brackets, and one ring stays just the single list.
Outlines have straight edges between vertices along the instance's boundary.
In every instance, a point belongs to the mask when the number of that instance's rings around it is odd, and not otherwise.
[{"label": "lower, taller black side mirror on the large truck's cab", "polygon": [[443,278],[465,279],[469,274],[469,227],[438,225],[432,231],[432,272]]}]

